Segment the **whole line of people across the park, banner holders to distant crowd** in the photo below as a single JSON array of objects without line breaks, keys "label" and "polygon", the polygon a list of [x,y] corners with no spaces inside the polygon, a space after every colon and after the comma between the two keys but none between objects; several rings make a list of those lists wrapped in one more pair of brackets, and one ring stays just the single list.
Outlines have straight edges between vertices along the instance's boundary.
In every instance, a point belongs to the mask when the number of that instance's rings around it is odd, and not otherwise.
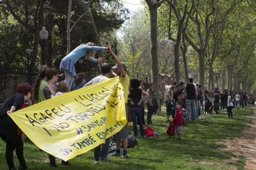
[{"label": "whole line of people across the park, banner holders to distant crowd", "polygon": [[[93,56],[95,56],[96,50],[108,51],[116,61],[116,65],[111,67],[109,63],[103,62],[102,57],[95,59]],[[100,65],[100,75],[90,80],[90,82],[85,82],[84,74],[76,74],[75,72],[75,62],[84,56],[86,59],[90,59],[92,62],[98,62]],[[59,70],[61,70],[62,74],[60,74],[61,72]],[[152,116],[161,108],[158,106],[153,93],[154,84],[150,83],[148,89],[145,89],[140,80],[130,80],[126,64],[119,60],[119,57],[114,54],[111,46],[99,47],[95,46],[95,43],[82,44],[62,59],[59,70],[46,65],[41,66],[33,88],[28,83],[21,83],[17,88],[17,93],[5,101],[6,108],[8,108],[7,113],[25,108],[28,106],[27,101],[30,98],[32,98],[33,104],[40,103],[54,96],[59,96],[69,91],[117,76],[124,87],[127,120],[130,118],[132,121],[135,137],[138,137],[140,134],[140,137],[145,138],[145,107],[147,106],[147,125],[153,124]],[[228,117],[233,118],[232,109],[235,106],[240,108],[240,106],[244,107],[249,103],[254,104],[255,102],[255,96],[247,95],[246,93],[235,93],[235,91],[231,90],[224,90],[222,93],[219,93],[218,90],[215,90],[214,93],[203,91],[202,85],[196,85],[191,78],[186,87],[184,82],[167,85],[165,95],[167,121],[170,121],[170,116],[173,117],[173,121],[176,122],[178,138],[181,138],[182,125],[186,124],[186,121],[194,121],[203,113],[211,114],[212,111],[215,111],[218,114],[220,108],[227,108]],[[140,128],[139,132],[137,125]],[[128,124],[121,131],[117,132],[115,135],[116,150],[111,154],[112,156],[129,158],[127,153],[128,132]],[[6,142],[6,161],[9,169],[15,169],[13,162],[14,150],[16,150],[17,158],[20,162],[19,169],[27,169],[27,164],[23,156],[23,140],[25,134],[7,114],[0,119],[0,135]],[[110,142],[111,138],[106,138],[105,143],[94,148],[95,163],[108,161]],[[122,154],[121,146],[123,148]],[[53,168],[57,167],[56,158],[52,155],[48,155],[48,157],[49,165]],[[70,163],[68,161],[62,161],[62,164],[69,165]]]}]

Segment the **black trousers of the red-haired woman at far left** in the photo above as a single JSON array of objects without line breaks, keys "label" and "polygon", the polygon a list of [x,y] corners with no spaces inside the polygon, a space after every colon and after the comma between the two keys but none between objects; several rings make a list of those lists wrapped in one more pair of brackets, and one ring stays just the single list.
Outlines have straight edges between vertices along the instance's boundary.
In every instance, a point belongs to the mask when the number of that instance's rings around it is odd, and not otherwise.
[{"label": "black trousers of the red-haired woman at far left", "polygon": [[23,141],[19,138],[16,144],[6,139],[6,162],[9,169],[14,168],[14,150],[16,151],[17,158],[19,159],[20,167],[27,168],[23,156]]}]

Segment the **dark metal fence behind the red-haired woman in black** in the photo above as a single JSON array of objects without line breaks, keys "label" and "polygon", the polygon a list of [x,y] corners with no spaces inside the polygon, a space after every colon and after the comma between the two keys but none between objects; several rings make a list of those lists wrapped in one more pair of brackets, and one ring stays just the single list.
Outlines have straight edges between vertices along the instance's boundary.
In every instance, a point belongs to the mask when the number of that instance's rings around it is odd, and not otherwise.
[{"label": "dark metal fence behind the red-haired woman in black", "polygon": [[14,95],[20,83],[33,85],[37,74],[38,70],[0,66],[0,103]]}]

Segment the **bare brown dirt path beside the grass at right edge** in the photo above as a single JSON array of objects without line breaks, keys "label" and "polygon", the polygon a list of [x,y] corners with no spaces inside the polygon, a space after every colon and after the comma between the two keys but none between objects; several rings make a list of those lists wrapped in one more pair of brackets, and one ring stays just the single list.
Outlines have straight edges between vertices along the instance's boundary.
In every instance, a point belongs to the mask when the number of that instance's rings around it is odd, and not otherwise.
[{"label": "bare brown dirt path beside the grass at right edge", "polygon": [[235,138],[233,140],[226,140],[228,150],[233,152],[236,157],[242,155],[245,157],[245,169],[256,170],[256,108],[254,109],[254,115],[248,117],[252,119],[252,124],[248,129],[245,129],[241,138]]}]

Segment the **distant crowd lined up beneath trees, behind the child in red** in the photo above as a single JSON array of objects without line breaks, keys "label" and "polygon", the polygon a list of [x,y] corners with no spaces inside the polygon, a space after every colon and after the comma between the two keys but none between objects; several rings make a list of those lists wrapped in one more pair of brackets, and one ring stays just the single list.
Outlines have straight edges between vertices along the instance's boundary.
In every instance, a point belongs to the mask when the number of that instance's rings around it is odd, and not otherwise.
[{"label": "distant crowd lined up beneath trees, behind the child in red", "polygon": [[224,89],[220,92],[218,88],[215,90],[203,91],[202,85],[193,83],[193,79],[189,79],[189,83],[184,86],[184,82],[174,82],[172,85],[166,86],[166,113],[167,121],[169,116],[175,116],[175,103],[182,102],[184,124],[186,121],[194,121],[201,114],[220,113],[220,109],[227,109],[228,118],[233,118],[234,108],[244,108],[247,104],[255,104],[255,94],[247,95],[247,93],[237,92],[234,90]]}]

